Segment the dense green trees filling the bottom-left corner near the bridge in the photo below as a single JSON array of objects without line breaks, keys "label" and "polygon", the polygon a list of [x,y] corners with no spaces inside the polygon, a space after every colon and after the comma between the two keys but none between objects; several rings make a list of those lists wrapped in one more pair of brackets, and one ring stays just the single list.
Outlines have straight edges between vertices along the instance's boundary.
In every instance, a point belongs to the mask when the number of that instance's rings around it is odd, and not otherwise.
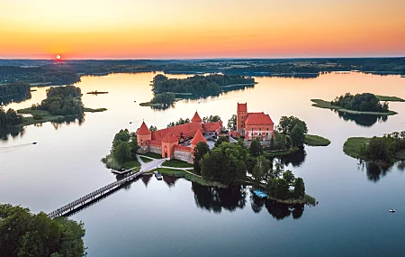
[{"label": "dense green trees filling the bottom-left corner near the bridge", "polygon": [[0,205],[0,256],[82,257],[82,222],[31,214],[28,208]]}]

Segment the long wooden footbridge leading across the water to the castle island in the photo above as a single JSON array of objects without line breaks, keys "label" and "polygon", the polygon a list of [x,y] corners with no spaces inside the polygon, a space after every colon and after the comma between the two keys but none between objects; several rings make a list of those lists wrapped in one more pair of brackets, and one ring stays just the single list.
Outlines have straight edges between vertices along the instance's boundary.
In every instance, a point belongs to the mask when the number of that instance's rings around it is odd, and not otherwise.
[{"label": "long wooden footbridge leading across the water to the castle island", "polygon": [[133,179],[138,178],[141,176],[143,173],[147,172],[148,170],[154,170],[157,167],[161,166],[161,164],[166,161],[165,159],[161,160],[155,160],[155,161],[150,161],[148,163],[142,163],[142,167],[140,171],[137,173],[131,174],[129,176],[126,176],[125,178],[112,182],[111,184],[108,184],[107,186],[104,186],[103,188],[98,188],[97,190],[85,195],[84,197],[80,197],[76,199],[75,201],[67,204],[64,207],[60,207],[57,210],[54,210],[53,212],[49,213],[48,216],[50,218],[55,218],[58,216],[64,216],[67,213],[70,213],[74,211],[76,208],[84,207],[86,204],[94,201],[94,199],[98,197],[103,197],[106,194],[109,194],[113,190],[116,190],[117,188],[120,188],[122,185],[125,183],[130,182]]}]

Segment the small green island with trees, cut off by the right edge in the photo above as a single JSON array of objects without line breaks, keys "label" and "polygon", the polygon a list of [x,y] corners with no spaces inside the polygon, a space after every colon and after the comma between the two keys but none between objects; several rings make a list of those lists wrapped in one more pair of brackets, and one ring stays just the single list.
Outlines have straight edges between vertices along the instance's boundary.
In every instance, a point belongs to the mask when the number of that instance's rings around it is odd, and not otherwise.
[{"label": "small green island with trees, cut off by the right edge", "polygon": [[360,161],[389,167],[395,161],[405,161],[405,131],[384,134],[383,137],[351,137],[343,151]]}]

